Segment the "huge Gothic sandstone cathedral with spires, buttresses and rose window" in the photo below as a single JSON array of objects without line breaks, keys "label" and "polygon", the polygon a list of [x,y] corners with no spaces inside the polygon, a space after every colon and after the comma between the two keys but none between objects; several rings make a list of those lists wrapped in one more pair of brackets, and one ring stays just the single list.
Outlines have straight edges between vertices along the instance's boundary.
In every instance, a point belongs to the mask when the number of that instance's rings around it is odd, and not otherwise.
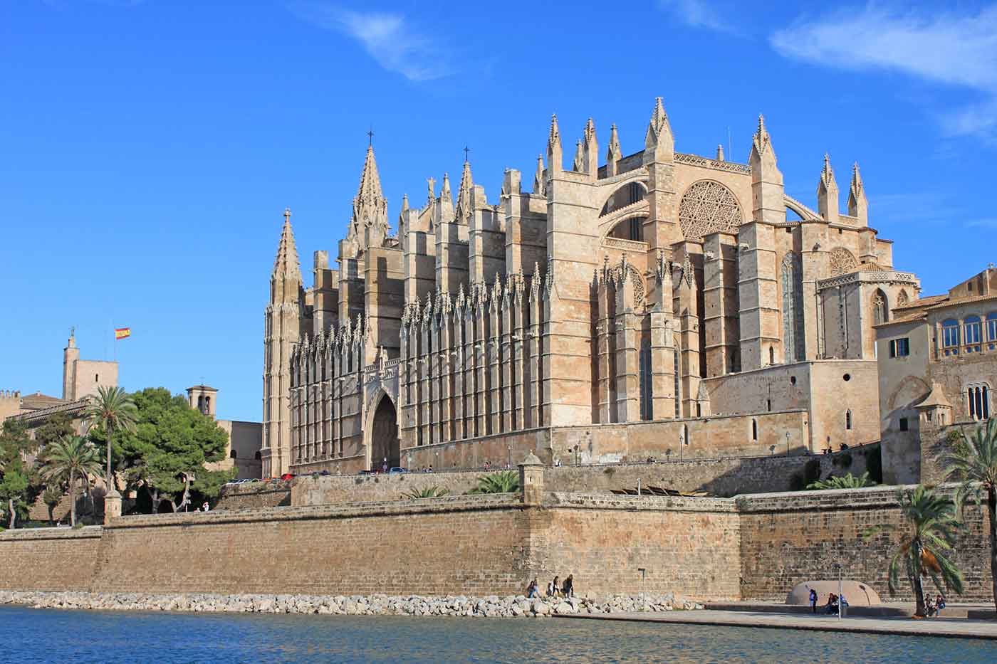
[{"label": "huge Gothic sandstone cathedral with spires, buttresses and rose window", "polygon": [[[659,98],[639,152],[557,118],[490,198],[466,160],[389,222],[368,147],[335,261],[307,287],[285,210],[265,310],[263,473],[819,454],[879,438],[873,326],[916,299],[815,160],[784,190],[762,117],[748,164],[676,151]],[[568,144],[570,145],[570,144]],[[528,172],[528,171],[527,171]],[[438,184],[439,181],[439,184]]]}]

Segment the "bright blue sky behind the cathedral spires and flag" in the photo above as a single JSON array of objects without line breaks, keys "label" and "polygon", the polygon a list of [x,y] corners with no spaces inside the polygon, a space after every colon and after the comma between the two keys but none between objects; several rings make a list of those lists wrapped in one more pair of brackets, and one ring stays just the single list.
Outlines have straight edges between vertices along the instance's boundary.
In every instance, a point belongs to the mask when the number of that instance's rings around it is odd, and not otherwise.
[{"label": "bright blue sky behind the cathedral spires and flag", "polygon": [[3,3],[0,389],[58,396],[71,325],[93,359],[131,326],[126,388],[203,379],[220,417],[259,420],[281,212],[310,282],[369,127],[394,222],[465,145],[496,199],[551,113],[567,162],[589,116],[636,152],[656,96],[677,150],[730,131],[741,162],[764,113],[812,206],[826,152],[842,205],[858,161],[894,264],[942,291],[997,260],[997,6],[938,4]]}]

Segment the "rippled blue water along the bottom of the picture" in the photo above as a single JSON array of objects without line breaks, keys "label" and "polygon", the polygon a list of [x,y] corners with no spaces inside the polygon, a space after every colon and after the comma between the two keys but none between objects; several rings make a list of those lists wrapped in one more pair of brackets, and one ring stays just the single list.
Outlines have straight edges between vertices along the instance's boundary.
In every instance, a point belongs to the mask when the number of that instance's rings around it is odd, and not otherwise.
[{"label": "rippled blue water along the bottom of the picture", "polygon": [[965,639],[499,620],[0,606],[0,662],[997,662]]}]

